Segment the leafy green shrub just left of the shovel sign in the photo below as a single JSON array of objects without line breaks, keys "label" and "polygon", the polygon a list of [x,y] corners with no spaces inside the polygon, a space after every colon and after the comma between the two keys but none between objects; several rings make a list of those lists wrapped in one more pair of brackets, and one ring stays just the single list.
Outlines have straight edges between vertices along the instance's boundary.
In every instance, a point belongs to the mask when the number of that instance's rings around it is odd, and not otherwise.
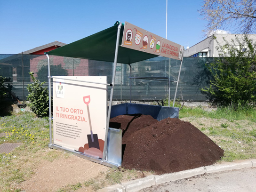
[{"label": "leafy green shrub just left of the shovel sign", "polygon": [[[34,77],[33,72],[29,72],[33,83],[28,85],[29,92],[28,101],[31,103],[30,107],[38,117],[49,115],[49,91],[48,87],[44,87],[44,82],[40,82]],[[52,99],[51,99],[52,100]]]}]

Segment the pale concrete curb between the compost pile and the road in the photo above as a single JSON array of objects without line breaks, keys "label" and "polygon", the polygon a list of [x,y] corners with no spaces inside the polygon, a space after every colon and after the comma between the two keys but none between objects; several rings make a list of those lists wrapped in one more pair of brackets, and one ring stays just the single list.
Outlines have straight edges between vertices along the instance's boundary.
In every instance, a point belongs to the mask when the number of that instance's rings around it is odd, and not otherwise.
[{"label": "pale concrete curb between the compost pile and the road", "polygon": [[138,192],[147,187],[156,184],[163,184],[170,181],[185,179],[192,176],[202,175],[205,173],[216,173],[221,171],[230,171],[241,168],[256,167],[256,159],[239,160],[235,162],[222,162],[220,164],[210,165],[206,167],[194,168],[190,170],[180,171],[177,173],[169,173],[164,175],[151,175],[141,179],[136,179],[122,184],[115,184],[98,190],[97,192]]}]

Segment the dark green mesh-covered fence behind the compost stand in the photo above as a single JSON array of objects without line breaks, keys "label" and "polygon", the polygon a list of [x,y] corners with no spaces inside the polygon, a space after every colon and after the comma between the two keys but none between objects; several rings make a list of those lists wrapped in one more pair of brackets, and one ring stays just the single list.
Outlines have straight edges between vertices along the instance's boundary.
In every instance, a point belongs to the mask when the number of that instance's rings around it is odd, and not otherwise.
[{"label": "dark green mesh-covered fence behind the compost stand", "polygon": [[[112,81],[113,63],[87,59],[49,56],[51,76],[107,76]],[[189,101],[206,101],[200,88],[208,87],[211,75],[205,64],[214,62],[213,57],[184,57],[177,98]],[[113,100],[158,101],[168,96],[170,79],[170,97],[174,98],[180,61],[165,57],[155,57],[131,64],[117,64]],[[6,77],[5,86],[20,100],[28,96],[27,85],[32,83],[29,72],[48,86],[48,60],[45,55],[0,54],[0,75]],[[75,94],[75,93],[74,93]],[[108,88],[110,96],[110,88]]]}]

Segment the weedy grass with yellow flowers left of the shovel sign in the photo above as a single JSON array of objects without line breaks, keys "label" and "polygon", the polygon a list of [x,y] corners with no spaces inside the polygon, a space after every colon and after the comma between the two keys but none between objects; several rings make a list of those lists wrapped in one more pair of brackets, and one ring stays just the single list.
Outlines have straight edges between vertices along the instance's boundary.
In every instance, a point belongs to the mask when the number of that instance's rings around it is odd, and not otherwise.
[{"label": "weedy grass with yellow flowers left of the shovel sign", "polygon": [[[48,147],[49,124],[47,118],[37,118],[34,113],[21,112],[0,117],[0,144],[21,143],[10,153],[0,153],[0,188],[7,191],[15,184],[29,178],[36,152]],[[28,165],[27,165],[28,164]]]}]

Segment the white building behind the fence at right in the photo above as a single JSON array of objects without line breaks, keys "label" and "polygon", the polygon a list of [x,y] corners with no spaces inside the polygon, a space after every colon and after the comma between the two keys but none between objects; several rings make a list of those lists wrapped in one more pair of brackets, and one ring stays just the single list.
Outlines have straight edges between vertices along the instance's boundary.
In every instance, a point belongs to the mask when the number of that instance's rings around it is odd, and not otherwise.
[{"label": "white building behind the fence at right", "polygon": [[[223,38],[231,42],[231,40],[235,40],[236,38],[243,40],[243,34],[215,34],[216,39],[213,38],[213,35],[202,40],[201,42],[193,45],[191,48],[187,48],[184,51],[185,57],[218,57],[219,53],[216,50],[218,43],[223,46],[225,41]],[[252,39],[256,41],[256,34],[248,34],[248,39]],[[238,46],[238,45],[237,45]],[[246,47],[244,47],[246,48]]]}]

